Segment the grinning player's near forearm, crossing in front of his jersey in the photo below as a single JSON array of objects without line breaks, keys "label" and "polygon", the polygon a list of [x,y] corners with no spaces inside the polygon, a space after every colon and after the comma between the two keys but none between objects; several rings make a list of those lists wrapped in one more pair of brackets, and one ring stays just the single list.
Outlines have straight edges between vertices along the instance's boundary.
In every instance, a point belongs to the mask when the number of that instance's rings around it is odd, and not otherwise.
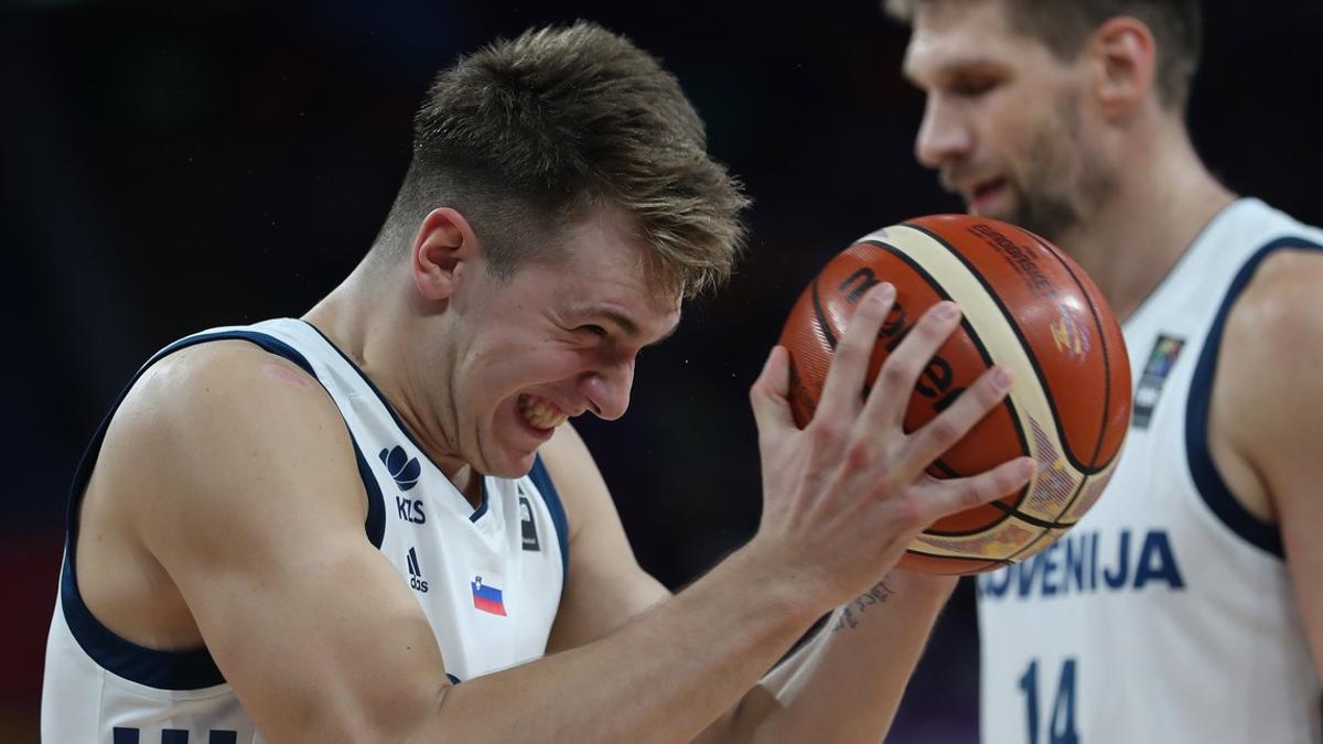
[{"label": "grinning player's near forearm, crossing in front of his jersey", "polygon": [[450,687],[417,741],[688,741],[823,608],[749,555],[587,646]]}]

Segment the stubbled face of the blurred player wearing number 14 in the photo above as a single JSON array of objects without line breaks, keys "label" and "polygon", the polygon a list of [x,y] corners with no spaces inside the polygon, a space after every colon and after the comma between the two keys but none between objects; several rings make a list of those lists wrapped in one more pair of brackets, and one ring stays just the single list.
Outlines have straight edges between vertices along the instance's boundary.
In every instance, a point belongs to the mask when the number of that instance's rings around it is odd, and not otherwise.
[{"label": "stubbled face of the blurred player wearing number 14", "polygon": [[1061,240],[1115,184],[1090,147],[1088,73],[1011,29],[1002,3],[921,5],[905,53],[926,94],[919,163],[971,213]]}]

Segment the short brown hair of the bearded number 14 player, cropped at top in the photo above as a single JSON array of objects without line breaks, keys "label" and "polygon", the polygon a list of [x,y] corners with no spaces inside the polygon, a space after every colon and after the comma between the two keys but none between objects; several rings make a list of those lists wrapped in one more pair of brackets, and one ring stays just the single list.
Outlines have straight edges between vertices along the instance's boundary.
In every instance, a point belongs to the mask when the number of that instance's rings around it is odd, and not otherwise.
[{"label": "short brown hair of the bearded number 14 player, cropped at top", "polygon": [[[912,21],[919,5],[974,0],[884,0],[886,12]],[[1158,46],[1158,99],[1184,110],[1203,46],[1200,0],[999,0],[1011,26],[1041,40],[1058,60],[1073,60],[1107,19],[1132,16]]]}]

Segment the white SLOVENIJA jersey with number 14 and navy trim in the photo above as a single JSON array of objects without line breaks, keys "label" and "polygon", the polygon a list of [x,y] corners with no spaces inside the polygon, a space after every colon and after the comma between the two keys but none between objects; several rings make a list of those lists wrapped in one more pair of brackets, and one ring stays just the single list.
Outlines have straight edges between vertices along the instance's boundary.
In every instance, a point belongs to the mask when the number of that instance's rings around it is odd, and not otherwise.
[{"label": "white SLOVENIJA jersey with number 14 and navy trim", "polygon": [[1125,324],[1135,408],[1111,483],[1054,545],[978,580],[987,744],[1320,741],[1281,537],[1205,433],[1228,310],[1283,246],[1323,232],[1241,199]]}]

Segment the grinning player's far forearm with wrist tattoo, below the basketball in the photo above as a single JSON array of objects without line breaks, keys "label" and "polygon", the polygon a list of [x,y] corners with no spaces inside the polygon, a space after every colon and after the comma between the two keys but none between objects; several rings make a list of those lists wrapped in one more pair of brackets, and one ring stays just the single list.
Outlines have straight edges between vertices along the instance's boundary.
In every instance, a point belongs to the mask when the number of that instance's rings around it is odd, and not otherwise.
[{"label": "grinning player's far forearm with wrist tattoo, below the basketball", "polygon": [[701,741],[880,741],[954,579],[892,573],[837,608]]}]

